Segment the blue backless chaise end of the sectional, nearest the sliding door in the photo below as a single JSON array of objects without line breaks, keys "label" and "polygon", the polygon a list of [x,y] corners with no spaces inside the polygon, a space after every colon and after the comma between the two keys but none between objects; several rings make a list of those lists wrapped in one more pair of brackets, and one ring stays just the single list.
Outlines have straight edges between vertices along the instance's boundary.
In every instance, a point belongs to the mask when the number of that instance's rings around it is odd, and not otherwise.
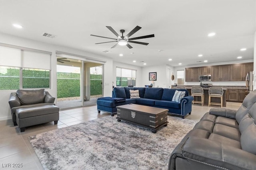
[{"label": "blue backless chaise end of the sectional, nearest the sliding door", "polygon": [[116,113],[116,106],[121,106],[124,104],[135,104],[135,99],[124,99],[124,98],[111,98],[111,97],[104,97],[98,98],[97,100],[97,110],[98,113],[100,111],[104,111],[110,113],[111,116],[114,116]]}]

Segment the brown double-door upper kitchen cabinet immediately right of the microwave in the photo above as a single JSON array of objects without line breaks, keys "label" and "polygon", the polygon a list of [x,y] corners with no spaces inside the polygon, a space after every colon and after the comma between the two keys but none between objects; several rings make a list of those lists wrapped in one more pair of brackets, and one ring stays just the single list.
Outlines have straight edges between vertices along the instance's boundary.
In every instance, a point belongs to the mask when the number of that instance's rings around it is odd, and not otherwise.
[{"label": "brown double-door upper kitchen cabinet immediately right of the microwave", "polygon": [[212,81],[230,81],[230,65],[212,66]]}]

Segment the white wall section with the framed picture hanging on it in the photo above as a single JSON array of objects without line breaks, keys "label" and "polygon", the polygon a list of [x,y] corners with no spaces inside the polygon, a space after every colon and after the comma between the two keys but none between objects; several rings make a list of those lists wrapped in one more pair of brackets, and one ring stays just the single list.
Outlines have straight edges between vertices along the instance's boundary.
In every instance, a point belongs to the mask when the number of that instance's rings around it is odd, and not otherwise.
[{"label": "white wall section with the framed picture hanging on it", "polygon": [[[170,74],[168,74],[170,71]],[[170,85],[173,85],[174,82],[167,75],[172,75],[174,72],[174,67],[169,65],[157,65],[157,66],[145,66],[142,67],[142,85],[150,85],[151,81],[149,81],[149,72],[156,72],[156,81],[154,81],[153,87],[161,87],[161,88],[169,88]]]}]

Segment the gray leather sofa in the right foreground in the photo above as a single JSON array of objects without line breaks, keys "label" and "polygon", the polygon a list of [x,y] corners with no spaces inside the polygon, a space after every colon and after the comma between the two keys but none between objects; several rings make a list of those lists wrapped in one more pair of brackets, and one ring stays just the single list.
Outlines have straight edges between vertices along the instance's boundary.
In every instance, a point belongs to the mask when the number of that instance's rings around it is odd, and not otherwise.
[{"label": "gray leather sofa in the right foreground", "polygon": [[256,91],[238,110],[212,108],[173,150],[169,170],[256,170]]}]

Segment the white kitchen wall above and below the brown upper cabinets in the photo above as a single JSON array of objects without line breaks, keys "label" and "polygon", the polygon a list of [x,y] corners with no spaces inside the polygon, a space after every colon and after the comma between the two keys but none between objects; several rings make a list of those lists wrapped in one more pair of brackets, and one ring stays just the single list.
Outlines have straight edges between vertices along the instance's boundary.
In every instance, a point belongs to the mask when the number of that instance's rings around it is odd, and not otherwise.
[{"label": "white kitchen wall above and below the brown upper cabinets", "polygon": [[[254,58],[255,60],[255,58]],[[176,79],[176,75],[177,75],[177,70],[185,70],[185,68],[188,68],[188,67],[200,67],[200,66],[214,66],[214,65],[223,65],[223,64],[237,64],[237,63],[251,63],[251,62],[254,62],[253,59],[251,60],[238,60],[238,61],[230,61],[230,62],[221,62],[221,63],[209,63],[209,64],[198,64],[198,65],[189,65],[189,66],[178,66],[178,67],[174,67],[174,76],[175,76],[175,79],[174,79],[174,82],[176,83],[177,82],[177,79]],[[255,64],[254,64],[254,67],[255,67]],[[255,68],[254,68],[255,70]],[[184,72],[185,74],[185,72]],[[184,80],[185,80],[185,75],[184,75]],[[237,82],[212,82],[212,81],[204,81],[202,83],[212,83],[213,86],[245,86],[245,82],[244,81],[237,81]],[[188,85],[188,86],[199,86],[200,85],[200,82],[184,82],[184,85]]]}]

